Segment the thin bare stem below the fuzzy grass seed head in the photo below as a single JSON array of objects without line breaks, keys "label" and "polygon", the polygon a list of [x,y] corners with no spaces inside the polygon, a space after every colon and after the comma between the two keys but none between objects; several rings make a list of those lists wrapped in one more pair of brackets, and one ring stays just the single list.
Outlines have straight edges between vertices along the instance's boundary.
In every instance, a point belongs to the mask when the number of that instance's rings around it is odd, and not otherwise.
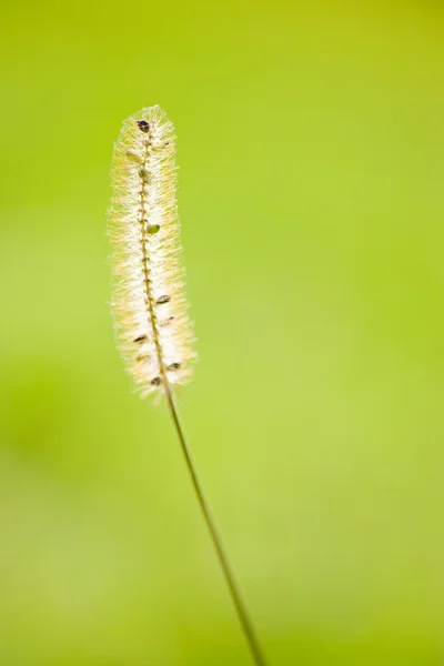
[{"label": "thin bare stem below the fuzzy grass seed head", "polygon": [[179,418],[178,410],[174,404],[172,391],[171,391],[171,387],[170,387],[170,384],[169,384],[167,377],[164,377],[163,383],[164,383],[164,389],[165,389],[167,404],[168,404],[169,411],[171,413],[171,416],[172,416],[172,420],[174,423],[175,432],[179,437],[183,457],[185,458],[186,467],[188,467],[188,471],[191,476],[193,488],[194,488],[195,495],[198,497],[199,505],[202,509],[202,514],[203,514],[203,518],[205,521],[206,527],[210,532],[210,536],[213,542],[214,549],[218,554],[219,562],[222,566],[223,575],[224,575],[226,584],[229,586],[231,598],[233,601],[239,619],[241,622],[242,629],[245,635],[248,645],[250,647],[250,652],[252,654],[254,664],[256,666],[268,666],[268,662],[263,655],[263,652],[260,646],[259,638],[255,633],[252,619],[246,609],[246,605],[242,598],[242,594],[241,594],[239,584],[236,582],[234,572],[232,569],[232,566],[230,564],[230,559],[226,555],[226,551],[224,548],[222,538],[219,534],[214,518],[212,517],[209,502],[205,497],[202,484],[199,480],[196,468],[195,468],[195,465],[194,465],[194,462],[193,462],[193,458],[191,455],[190,446],[186,442],[186,438],[185,438],[185,435],[183,432],[183,427],[182,427],[182,424]]}]

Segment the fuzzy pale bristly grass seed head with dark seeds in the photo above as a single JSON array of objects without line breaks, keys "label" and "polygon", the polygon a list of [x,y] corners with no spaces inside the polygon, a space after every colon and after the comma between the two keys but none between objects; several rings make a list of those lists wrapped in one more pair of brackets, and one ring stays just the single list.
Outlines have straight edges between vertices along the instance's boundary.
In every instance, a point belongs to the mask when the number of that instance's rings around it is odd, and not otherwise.
[{"label": "fuzzy pale bristly grass seed head with dark seeds", "polygon": [[175,137],[160,107],[124,121],[112,160],[112,310],[127,367],[145,395],[191,379],[193,332],[175,201]]}]

